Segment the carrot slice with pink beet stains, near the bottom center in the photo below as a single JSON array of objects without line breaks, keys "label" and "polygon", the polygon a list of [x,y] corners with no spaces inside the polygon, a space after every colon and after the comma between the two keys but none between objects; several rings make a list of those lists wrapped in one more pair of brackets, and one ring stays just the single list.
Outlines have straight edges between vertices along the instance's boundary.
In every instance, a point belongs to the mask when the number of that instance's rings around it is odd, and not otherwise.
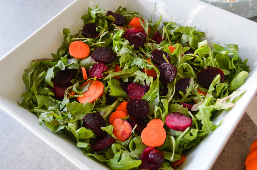
[{"label": "carrot slice with pink beet stains, near the bottom center", "polygon": [[116,118],[113,120],[113,134],[122,142],[126,141],[132,131],[131,125],[126,120]]}]

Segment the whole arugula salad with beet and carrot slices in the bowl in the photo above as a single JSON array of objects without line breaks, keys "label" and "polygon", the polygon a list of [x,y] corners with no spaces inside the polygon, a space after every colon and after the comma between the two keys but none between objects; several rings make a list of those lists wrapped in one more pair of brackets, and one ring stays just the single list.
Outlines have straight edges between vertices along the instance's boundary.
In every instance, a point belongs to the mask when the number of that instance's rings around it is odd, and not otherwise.
[{"label": "whole arugula salad with beet and carrot slices in the bowl", "polygon": [[[88,8],[84,25],[51,59],[25,69],[18,104],[110,169],[178,169],[188,149],[220,124],[248,76],[238,46],[196,27]],[[221,123],[221,122],[220,122]]]}]

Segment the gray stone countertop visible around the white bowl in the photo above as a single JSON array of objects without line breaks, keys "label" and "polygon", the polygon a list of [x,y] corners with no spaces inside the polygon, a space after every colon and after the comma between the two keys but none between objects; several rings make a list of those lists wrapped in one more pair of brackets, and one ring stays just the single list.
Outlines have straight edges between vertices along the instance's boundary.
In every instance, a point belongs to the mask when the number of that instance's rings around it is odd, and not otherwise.
[{"label": "gray stone countertop visible around the white bowl", "polygon": [[[72,1],[0,1],[0,58]],[[257,17],[251,20],[257,21]],[[257,97],[249,105],[212,170],[245,169],[250,144],[257,138],[256,104]],[[0,122],[0,169],[78,169],[2,109]]]}]

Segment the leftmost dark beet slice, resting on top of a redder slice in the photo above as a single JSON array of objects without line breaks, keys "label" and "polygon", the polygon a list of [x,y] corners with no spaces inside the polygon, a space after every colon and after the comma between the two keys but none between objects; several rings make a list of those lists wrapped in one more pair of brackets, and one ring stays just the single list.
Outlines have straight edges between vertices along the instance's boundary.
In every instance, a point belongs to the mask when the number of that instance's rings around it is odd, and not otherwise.
[{"label": "leftmost dark beet slice, resting on top of a redder slice", "polygon": [[71,69],[60,70],[54,77],[56,84],[60,86],[67,86],[73,78],[74,74]]}]

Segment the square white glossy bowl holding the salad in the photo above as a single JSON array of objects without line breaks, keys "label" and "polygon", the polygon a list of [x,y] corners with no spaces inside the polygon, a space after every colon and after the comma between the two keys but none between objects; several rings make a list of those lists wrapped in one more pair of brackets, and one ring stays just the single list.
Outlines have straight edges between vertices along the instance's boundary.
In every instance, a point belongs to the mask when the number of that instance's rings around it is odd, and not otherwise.
[{"label": "square white glossy bowl holding the salad", "polygon": [[[3,89],[0,94],[0,107],[80,169],[108,169],[103,163],[84,156],[81,149],[77,148],[76,143],[70,139],[50,132],[45,126],[40,126],[34,114],[17,105],[17,100],[22,101],[20,95],[26,90],[21,77],[24,69],[29,67],[31,60],[51,58],[51,53],[56,53],[63,41],[63,28],[72,30],[83,25],[80,17],[87,13],[88,6],[92,8],[98,3],[99,7],[106,11],[115,11],[122,6],[128,10],[137,11],[144,18],[150,19],[154,2],[154,0],[77,0],[70,4],[0,60],[0,80],[3,82],[0,84],[0,88]],[[221,46],[238,44],[240,57],[242,59],[249,58],[247,64],[250,66],[250,74],[245,84],[240,87],[240,89],[246,90],[246,93],[236,102],[233,109],[223,111],[215,119],[216,123],[223,119],[222,125],[194,147],[187,154],[187,160],[182,165],[183,170],[196,167],[197,169],[210,169],[257,90],[255,85],[257,24],[197,0],[158,1],[153,21],[157,21],[160,15],[163,15],[162,22],[169,21],[173,16],[172,21],[178,25],[196,26],[197,30],[206,33],[205,38],[209,44],[211,42]],[[11,66],[12,69],[10,69]],[[7,71],[8,74],[4,74]],[[66,149],[63,150],[63,148]]]}]

